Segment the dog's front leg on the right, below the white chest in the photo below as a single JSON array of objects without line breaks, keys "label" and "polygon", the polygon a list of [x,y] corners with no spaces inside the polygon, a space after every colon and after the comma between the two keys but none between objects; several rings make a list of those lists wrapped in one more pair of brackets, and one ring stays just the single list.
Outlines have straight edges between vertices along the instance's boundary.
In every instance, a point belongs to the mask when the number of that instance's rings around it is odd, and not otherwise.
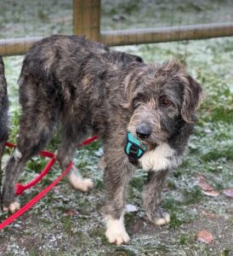
[{"label": "dog's front leg on the right, below the white chest", "polygon": [[167,174],[168,170],[150,171],[143,192],[143,201],[147,217],[156,225],[168,224],[170,222],[169,213],[163,212],[162,208],[159,207],[162,201],[163,183]]}]

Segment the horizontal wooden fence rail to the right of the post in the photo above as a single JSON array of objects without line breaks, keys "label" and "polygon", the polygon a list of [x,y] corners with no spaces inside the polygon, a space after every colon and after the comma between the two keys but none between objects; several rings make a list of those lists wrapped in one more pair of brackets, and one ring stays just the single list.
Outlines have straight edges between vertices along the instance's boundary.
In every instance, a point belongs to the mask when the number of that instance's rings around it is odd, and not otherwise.
[{"label": "horizontal wooden fence rail to the right of the post", "polygon": [[100,41],[116,46],[230,36],[233,36],[233,22],[102,32]]}]

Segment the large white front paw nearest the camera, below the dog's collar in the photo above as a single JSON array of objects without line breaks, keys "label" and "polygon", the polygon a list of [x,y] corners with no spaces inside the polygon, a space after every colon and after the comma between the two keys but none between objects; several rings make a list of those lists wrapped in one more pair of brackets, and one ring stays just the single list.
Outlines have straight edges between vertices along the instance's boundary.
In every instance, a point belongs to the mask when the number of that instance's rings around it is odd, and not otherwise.
[{"label": "large white front paw nearest the camera, below the dog's collar", "polygon": [[108,241],[116,243],[117,245],[127,243],[130,240],[125,230],[122,217],[120,219],[107,218],[107,230],[105,236]]}]

